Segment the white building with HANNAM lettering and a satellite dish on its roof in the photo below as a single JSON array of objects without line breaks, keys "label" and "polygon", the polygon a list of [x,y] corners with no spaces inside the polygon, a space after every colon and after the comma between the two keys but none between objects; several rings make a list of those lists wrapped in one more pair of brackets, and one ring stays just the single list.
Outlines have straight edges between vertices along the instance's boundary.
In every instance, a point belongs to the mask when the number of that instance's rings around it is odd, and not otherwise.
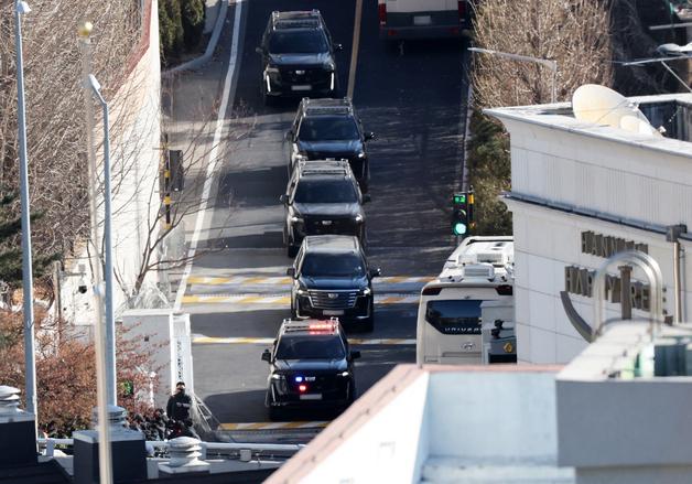
[{"label": "white building with HANNAM lettering and a satellite dish on its roof", "polygon": [[[674,313],[673,244],[667,227],[692,229],[692,95],[630,98],[664,137],[576,119],[570,104],[488,109],[511,139],[518,361],[566,363],[586,341],[565,313],[593,320],[593,271],[615,251],[640,249],[661,267],[664,310]],[[620,106],[621,108],[621,106]],[[681,243],[682,321],[692,318],[688,278],[692,234]],[[617,272],[617,271],[616,271]],[[619,278],[607,281],[609,316],[619,315]],[[634,316],[646,316],[650,294],[632,273]],[[645,311],[638,311],[645,310]]]}]

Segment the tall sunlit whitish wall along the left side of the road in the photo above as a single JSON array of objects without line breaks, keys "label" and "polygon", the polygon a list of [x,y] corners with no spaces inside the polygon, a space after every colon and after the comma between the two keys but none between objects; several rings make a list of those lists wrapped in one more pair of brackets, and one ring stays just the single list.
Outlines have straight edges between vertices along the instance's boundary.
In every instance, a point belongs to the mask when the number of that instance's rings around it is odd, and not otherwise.
[{"label": "tall sunlit whitish wall along the left side of the road", "polygon": [[[110,110],[113,260],[120,281],[116,281],[113,287],[117,314],[131,295],[150,225],[153,225],[152,235],[155,236],[153,221],[160,206],[161,151],[156,149],[161,143],[158,2],[151,0],[143,4],[142,40],[129,58],[129,74],[112,96],[107,90],[112,86],[104,86]],[[99,172],[102,174],[102,119],[98,107],[95,114],[94,138],[97,142]],[[99,232],[102,234],[101,202],[99,206]],[[66,272],[78,272],[79,265],[87,269],[85,277],[65,277],[61,283],[63,315],[75,324],[89,325],[95,319],[95,309],[86,248],[80,258],[66,265]],[[155,281],[155,273],[150,279]],[[85,281],[89,290],[80,293],[78,287]]]}]

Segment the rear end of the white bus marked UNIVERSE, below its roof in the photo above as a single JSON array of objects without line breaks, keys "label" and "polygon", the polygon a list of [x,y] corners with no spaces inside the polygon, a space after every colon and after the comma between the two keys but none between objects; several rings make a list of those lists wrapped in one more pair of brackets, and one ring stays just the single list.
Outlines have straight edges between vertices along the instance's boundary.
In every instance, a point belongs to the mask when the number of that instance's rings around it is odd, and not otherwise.
[{"label": "rear end of the white bus marked UNIVERSE, below its roof", "polygon": [[506,282],[425,286],[418,309],[417,363],[480,364],[480,304],[498,300],[513,304],[511,292],[511,286]]}]

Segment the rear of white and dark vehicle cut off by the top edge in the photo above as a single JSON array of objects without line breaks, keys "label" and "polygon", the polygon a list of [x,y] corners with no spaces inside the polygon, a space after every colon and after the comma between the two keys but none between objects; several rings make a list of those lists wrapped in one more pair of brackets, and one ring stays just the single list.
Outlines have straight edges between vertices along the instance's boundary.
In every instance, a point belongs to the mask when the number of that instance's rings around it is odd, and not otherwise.
[{"label": "rear of white and dark vehicle cut off by the top edge", "polygon": [[467,0],[378,0],[380,39],[458,37],[469,10]]}]

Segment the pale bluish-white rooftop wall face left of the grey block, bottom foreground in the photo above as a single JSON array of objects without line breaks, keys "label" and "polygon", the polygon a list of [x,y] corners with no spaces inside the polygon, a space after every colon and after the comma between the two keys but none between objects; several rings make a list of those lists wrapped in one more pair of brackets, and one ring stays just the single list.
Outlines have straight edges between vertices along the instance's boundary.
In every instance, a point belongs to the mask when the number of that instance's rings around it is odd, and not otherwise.
[{"label": "pale bluish-white rooftop wall face left of the grey block, bottom foreground", "polygon": [[429,454],[473,466],[532,466],[558,459],[554,373],[430,376]]}]

